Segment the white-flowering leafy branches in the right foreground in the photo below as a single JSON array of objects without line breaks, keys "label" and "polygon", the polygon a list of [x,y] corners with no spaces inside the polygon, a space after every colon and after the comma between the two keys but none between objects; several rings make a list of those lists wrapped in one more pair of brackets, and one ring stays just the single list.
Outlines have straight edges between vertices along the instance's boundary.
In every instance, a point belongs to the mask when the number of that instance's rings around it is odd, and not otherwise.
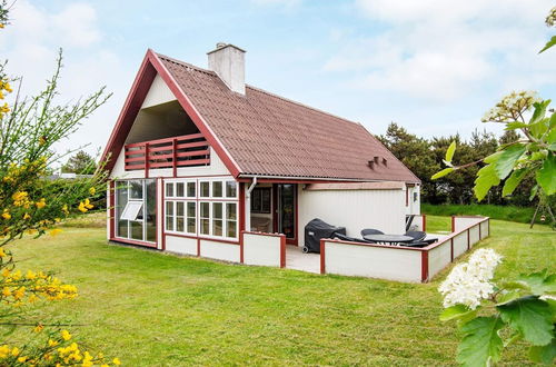
[{"label": "white-flowering leafy branches in the right foreground", "polygon": [[[555,19],[553,8],[547,24],[554,26]],[[553,37],[552,44],[542,51],[555,43]],[[556,197],[556,113],[549,105],[549,99],[529,91],[504,97],[485,113],[483,122],[504,123],[506,130],[519,131],[523,137],[512,137],[495,153],[459,166],[453,163],[457,146],[453,141],[445,156],[448,167],[433,179],[484,163],[474,187],[479,201],[502,181],[502,194],[507,196],[525,179],[534,179],[530,195],[539,199],[537,211],[546,207],[555,225],[549,200]],[[533,113],[526,118],[529,110]],[[505,347],[524,340],[530,345],[534,361],[552,365],[556,357],[556,275],[545,269],[495,285],[492,279],[498,262],[500,257],[494,250],[479,249],[468,264],[456,266],[438,289],[446,308],[440,319],[457,320],[464,335],[457,360],[466,366],[489,366],[500,359]]]}]

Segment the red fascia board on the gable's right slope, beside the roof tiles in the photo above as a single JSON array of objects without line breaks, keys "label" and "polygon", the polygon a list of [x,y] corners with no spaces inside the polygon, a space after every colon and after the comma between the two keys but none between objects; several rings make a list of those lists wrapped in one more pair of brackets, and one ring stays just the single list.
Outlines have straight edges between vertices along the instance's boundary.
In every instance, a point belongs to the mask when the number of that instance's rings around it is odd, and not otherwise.
[{"label": "red fascia board on the gable's right slope, beside the roof tiles", "polygon": [[186,93],[183,93],[183,91],[179,87],[178,82],[176,81],[176,79],[173,79],[173,77],[170,75],[168,69],[166,69],[163,63],[160,61],[159,57],[151,49],[149,49],[147,51],[147,58],[149,59],[150,63],[155,67],[158,75],[166,82],[168,88],[170,88],[173,96],[176,96],[176,98],[178,99],[178,102],[181,105],[181,108],[183,108],[183,110],[187,112],[187,115],[189,115],[189,117],[191,118],[193,123],[197,126],[199,131],[205,136],[205,138],[210,143],[212,149],[215,149],[216,153],[222,160],[226,168],[230,171],[230,173],[234,177],[238,177],[240,173],[239,166],[234,161],[231,156],[228,153],[228,151],[222,146],[220,140],[218,140],[216,135],[212,132],[212,130],[207,125],[205,119],[197,111],[197,109],[191,103],[191,101],[186,96]]}]

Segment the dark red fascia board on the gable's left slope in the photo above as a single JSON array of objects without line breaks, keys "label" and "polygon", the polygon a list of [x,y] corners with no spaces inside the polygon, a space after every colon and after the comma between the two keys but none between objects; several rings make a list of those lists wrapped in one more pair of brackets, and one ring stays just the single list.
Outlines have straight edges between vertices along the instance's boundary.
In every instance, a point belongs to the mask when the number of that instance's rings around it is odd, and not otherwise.
[{"label": "dark red fascia board on the gable's left slope", "polygon": [[147,52],[147,56],[141,62],[141,67],[137,72],[136,79],[133,80],[131,90],[126,98],[123,108],[121,109],[118,120],[116,121],[116,127],[110,133],[108,143],[102,152],[101,161],[106,161],[106,159],[110,156],[110,159],[106,165],[106,169],[109,171],[112,170],[116,159],[118,159],[120,150],[123,147],[123,142],[126,141],[131,126],[133,125],[137,113],[141,109],[142,102],[149,92],[156,75],[157,71],[149,61]]}]

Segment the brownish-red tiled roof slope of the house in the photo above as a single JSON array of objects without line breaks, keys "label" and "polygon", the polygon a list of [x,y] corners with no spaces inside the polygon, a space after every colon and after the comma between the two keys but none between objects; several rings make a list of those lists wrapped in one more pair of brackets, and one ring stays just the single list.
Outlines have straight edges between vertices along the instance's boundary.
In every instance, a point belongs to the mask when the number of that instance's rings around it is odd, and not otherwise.
[{"label": "brownish-red tiled roof slope of the house", "polygon": [[[251,86],[239,95],[214,71],[157,56],[237,163],[239,176],[419,181],[360,123]],[[374,157],[379,159],[371,169]]]}]

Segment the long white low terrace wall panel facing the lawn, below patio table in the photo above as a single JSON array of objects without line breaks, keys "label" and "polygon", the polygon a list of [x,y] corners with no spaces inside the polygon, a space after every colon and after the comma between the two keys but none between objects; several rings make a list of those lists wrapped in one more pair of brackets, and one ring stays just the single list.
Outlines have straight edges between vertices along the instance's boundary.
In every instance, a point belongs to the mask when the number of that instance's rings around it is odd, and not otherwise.
[{"label": "long white low terrace wall panel facing the lawn, below patio table", "polygon": [[325,242],[327,274],[420,282],[419,250]]}]

